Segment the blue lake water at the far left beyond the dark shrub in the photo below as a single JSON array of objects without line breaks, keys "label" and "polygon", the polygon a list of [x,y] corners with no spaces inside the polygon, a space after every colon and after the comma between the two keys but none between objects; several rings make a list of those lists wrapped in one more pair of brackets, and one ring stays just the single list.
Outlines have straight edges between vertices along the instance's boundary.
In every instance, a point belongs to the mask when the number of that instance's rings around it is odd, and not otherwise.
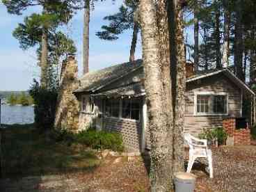
[{"label": "blue lake water at the far left beyond the dark shrub", "polygon": [[29,124],[34,122],[33,106],[1,105],[2,124]]}]

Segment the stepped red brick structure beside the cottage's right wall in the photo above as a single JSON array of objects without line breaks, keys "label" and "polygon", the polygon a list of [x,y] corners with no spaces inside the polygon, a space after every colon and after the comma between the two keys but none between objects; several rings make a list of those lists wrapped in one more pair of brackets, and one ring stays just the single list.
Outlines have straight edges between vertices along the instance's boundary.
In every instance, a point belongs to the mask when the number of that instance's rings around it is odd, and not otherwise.
[{"label": "stepped red brick structure beside the cottage's right wall", "polygon": [[250,145],[250,129],[236,129],[236,118],[223,120],[223,129],[227,132],[227,145]]}]

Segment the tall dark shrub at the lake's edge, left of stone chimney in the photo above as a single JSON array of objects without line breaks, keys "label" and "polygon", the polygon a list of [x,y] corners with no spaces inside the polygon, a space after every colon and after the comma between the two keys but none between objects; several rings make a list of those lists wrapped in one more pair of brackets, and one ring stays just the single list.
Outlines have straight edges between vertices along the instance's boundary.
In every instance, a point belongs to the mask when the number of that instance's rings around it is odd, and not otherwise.
[{"label": "tall dark shrub at the lake's edge, left of stone chimney", "polygon": [[35,126],[39,129],[50,129],[54,126],[58,92],[56,88],[42,88],[34,80],[29,94],[35,102]]}]

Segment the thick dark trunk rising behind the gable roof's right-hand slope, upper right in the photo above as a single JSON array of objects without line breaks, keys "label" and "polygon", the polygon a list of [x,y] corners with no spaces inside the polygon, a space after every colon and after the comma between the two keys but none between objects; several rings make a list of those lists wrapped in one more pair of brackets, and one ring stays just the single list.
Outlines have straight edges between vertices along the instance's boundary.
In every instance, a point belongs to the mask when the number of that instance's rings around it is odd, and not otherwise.
[{"label": "thick dark trunk rising behind the gable roof's right-hand slope, upper right", "polygon": [[234,33],[234,67],[237,77],[243,81],[243,26],[241,23],[242,0],[236,2],[236,23]]}]

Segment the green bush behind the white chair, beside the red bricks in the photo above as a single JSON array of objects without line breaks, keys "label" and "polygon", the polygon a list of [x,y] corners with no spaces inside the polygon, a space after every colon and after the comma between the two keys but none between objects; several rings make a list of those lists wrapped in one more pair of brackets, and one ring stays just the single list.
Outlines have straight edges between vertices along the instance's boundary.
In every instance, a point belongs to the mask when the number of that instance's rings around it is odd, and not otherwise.
[{"label": "green bush behind the white chair, beside the red bricks", "polygon": [[227,133],[223,127],[214,127],[212,129],[203,129],[202,133],[199,134],[199,138],[205,138],[211,143],[218,141],[218,145],[223,145],[227,140]]}]

